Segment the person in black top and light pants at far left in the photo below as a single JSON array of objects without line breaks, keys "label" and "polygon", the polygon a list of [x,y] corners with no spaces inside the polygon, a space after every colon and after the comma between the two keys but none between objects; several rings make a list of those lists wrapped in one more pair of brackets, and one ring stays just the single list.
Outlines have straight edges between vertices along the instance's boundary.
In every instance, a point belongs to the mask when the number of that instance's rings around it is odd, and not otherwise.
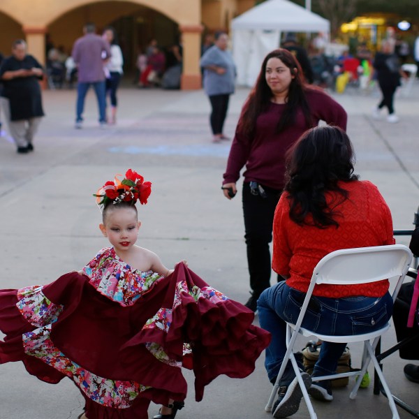
[{"label": "person in black top and light pants at far left", "polygon": [[34,151],[34,135],[44,116],[38,82],[43,75],[41,64],[27,54],[27,43],[17,39],[12,45],[12,55],[1,64],[0,79],[3,113],[19,154]]}]

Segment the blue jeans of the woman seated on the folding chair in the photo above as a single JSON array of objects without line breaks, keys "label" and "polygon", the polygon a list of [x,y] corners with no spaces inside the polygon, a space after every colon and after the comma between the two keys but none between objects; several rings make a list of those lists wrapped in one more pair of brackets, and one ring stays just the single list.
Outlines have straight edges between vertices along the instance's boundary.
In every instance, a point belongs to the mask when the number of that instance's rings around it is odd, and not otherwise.
[{"label": "blue jeans of the woman seated on the folding chair", "polygon": [[[260,327],[272,334],[266,348],[265,368],[271,382],[277,378],[286,353],[286,322],[297,323],[305,294],[290,288],[281,281],[267,288],[258,300]],[[392,314],[392,297],[343,297],[312,296],[302,327],[325,335],[360,335],[382,328]],[[337,362],[346,344],[323,342],[313,375],[335,374]],[[294,378],[291,362],[288,362],[283,385]]]}]

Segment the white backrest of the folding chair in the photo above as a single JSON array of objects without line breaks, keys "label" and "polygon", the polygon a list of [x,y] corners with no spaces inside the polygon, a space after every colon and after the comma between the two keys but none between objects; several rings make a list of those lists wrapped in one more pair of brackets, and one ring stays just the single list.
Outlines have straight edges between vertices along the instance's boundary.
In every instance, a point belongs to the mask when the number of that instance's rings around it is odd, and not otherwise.
[{"label": "white backrest of the folding chair", "polygon": [[316,265],[316,284],[365,284],[404,276],[412,253],[402,244],[341,249],[326,255]]}]

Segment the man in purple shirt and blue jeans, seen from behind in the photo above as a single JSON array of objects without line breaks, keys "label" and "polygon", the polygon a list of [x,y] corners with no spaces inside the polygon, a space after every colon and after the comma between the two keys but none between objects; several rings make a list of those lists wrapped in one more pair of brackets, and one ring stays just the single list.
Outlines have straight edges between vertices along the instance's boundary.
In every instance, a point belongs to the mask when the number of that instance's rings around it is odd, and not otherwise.
[{"label": "man in purple shirt and blue jeans, seen from behind", "polygon": [[110,57],[110,45],[101,36],[95,34],[93,23],[84,25],[84,36],[78,38],[71,56],[78,66],[77,105],[75,128],[82,128],[84,98],[90,86],[93,86],[98,100],[99,124],[106,124],[105,72],[103,64]]}]

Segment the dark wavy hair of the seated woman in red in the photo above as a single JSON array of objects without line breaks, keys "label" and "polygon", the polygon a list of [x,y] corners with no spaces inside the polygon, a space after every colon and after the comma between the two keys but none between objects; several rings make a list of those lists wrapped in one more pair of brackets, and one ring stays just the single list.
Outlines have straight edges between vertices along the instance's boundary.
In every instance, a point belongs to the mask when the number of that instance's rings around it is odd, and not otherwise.
[{"label": "dark wavy hair of the seated woman in red", "polygon": [[[339,227],[335,207],[348,199],[348,191],[339,181],[353,182],[355,155],[351,140],[337,126],[316,126],[306,131],[288,150],[286,184],[290,218],[297,224],[318,228]],[[328,205],[326,193],[337,192],[338,198]],[[313,221],[308,221],[311,214]]]}]

